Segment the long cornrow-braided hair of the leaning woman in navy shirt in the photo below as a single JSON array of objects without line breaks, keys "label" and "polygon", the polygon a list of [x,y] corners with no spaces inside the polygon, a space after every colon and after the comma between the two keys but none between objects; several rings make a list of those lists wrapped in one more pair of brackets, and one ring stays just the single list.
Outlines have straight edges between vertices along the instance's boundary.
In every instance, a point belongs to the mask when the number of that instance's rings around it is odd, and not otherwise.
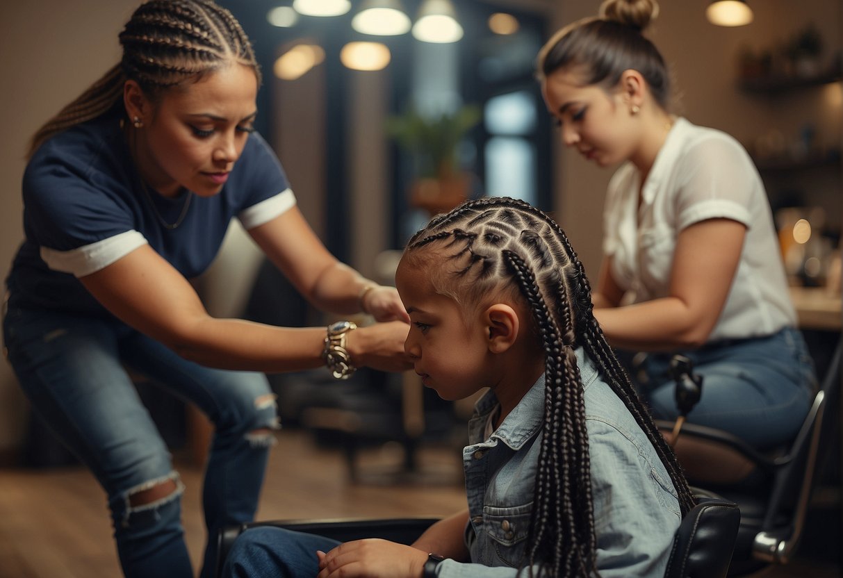
[{"label": "long cornrow-braided hair of the leaning woman in navy shirt", "polygon": [[32,136],[27,158],[51,136],[122,108],[123,85],[134,80],[155,99],[162,91],[195,83],[230,62],[260,68],[249,37],[227,9],[212,0],[150,0],[121,32],[121,62]]}]

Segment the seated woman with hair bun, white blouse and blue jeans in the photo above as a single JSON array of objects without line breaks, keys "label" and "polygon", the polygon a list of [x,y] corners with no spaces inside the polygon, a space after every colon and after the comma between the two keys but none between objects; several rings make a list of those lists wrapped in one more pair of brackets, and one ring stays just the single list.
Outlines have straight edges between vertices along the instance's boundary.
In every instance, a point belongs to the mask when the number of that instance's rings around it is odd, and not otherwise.
[{"label": "seated woman with hair bun, white blouse and blue jeans", "polygon": [[595,317],[613,346],[648,352],[640,388],[655,417],[678,415],[668,362],[681,353],[703,378],[688,420],[774,447],[796,435],[816,377],[770,204],[732,136],[670,113],[668,67],[642,34],[657,15],[655,0],[607,0],[538,59],[562,142],[620,164]]}]

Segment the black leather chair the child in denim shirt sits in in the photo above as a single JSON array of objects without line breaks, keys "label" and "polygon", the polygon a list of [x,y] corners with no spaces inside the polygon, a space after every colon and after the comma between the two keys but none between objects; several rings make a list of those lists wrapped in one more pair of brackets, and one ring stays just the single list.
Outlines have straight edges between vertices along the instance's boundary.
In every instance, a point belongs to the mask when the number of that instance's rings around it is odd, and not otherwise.
[{"label": "black leather chair the child in denim shirt sits in", "polygon": [[[698,494],[698,501],[697,506],[682,519],[676,532],[665,578],[722,578],[726,575],[738,533],[740,511],[733,502],[710,493]],[[334,538],[340,542],[384,538],[410,544],[433,522],[436,522],[436,518],[274,521],[223,528],[217,537],[217,576],[223,570],[223,563],[234,540],[250,527],[284,527]]]}]

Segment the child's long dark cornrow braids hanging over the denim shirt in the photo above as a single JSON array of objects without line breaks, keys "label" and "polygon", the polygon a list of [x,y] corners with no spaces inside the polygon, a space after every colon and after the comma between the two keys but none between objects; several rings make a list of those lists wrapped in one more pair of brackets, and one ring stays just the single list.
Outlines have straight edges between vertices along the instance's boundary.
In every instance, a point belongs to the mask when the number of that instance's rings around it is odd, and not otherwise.
[{"label": "child's long dark cornrow braids hanging over the denim shirt", "polygon": [[[551,576],[592,576],[594,532],[582,346],[656,448],[679,492],[683,516],[694,506],[688,483],[593,316],[591,287],[561,227],[529,203],[496,197],[466,201],[434,217],[407,244],[409,262],[432,267],[437,291],[466,306],[513,291],[532,313],[545,351],[545,423],[524,564]],[[531,570],[532,571],[532,570]]]}]

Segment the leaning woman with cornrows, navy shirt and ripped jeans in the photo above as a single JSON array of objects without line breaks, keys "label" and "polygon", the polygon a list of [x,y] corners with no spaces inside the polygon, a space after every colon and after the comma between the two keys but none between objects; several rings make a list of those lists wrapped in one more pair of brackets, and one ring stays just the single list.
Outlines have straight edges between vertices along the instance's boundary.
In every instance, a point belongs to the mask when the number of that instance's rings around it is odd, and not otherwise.
[{"label": "leaning woman with cornrows, navy shirt and ripped jeans", "polygon": [[[254,130],[260,70],[228,10],[150,0],[120,43],[121,62],[33,137],[3,337],[33,409],[105,490],[126,576],[194,576],[184,485],[127,370],[207,415],[207,576],[219,528],[257,509],[278,427],[261,372],[407,369],[409,318],[395,287],[341,264],[298,211]],[[188,280],[234,218],[316,307],[384,323],[326,331],[212,318]]]}]

